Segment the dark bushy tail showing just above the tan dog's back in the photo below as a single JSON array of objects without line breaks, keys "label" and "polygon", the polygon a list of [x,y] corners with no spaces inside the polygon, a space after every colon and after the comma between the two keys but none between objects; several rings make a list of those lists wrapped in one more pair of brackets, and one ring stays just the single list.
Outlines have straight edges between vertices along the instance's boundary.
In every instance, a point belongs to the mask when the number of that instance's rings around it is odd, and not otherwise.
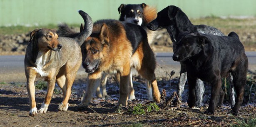
[{"label": "dark bushy tail showing just above the tan dog's back", "polygon": [[58,27],[58,36],[75,38],[78,34],[80,34],[78,31],[75,31],[74,29],[71,29],[69,26],[67,26],[67,24],[59,24]]}]

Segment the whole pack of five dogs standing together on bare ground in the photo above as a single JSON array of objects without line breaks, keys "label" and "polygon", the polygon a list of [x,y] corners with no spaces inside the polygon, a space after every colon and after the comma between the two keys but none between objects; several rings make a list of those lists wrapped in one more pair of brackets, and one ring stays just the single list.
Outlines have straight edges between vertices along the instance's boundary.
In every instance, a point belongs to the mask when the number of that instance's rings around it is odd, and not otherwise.
[{"label": "whole pack of five dogs standing together on bare ground", "polygon": [[[148,80],[147,94],[157,103],[160,93],[155,76],[156,58],[150,43],[157,29],[167,29],[174,45],[173,60],[181,62],[181,69],[187,73],[189,83],[189,107],[201,106],[204,89],[203,81],[212,86],[209,108],[205,114],[214,114],[224,100],[221,89],[222,77],[233,77],[237,97],[232,113],[237,115],[244,98],[244,86],[248,71],[248,60],[239,36],[231,32],[228,36],[218,29],[206,25],[193,25],[186,14],[176,6],[168,6],[155,16],[155,9],[142,3],[139,5],[121,4],[118,12],[120,21],[102,19],[92,23],[89,15],[79,11],[85,26],[76,33],[67,25],[60,26],[60,37],[52,29],[35,29],[30,34],[30,43],[25,55],[25,74],[30,101],[30,116],[46,113],[57,82],[62,89],[63,101],[58,110],[68,109],[71,87],[81,64],[88,73],[87,88],[79,110],[86,108],[94,93],[102,97],[100,84],[105,90],[108,74],[119,79],[119,100],[115,107],[127,106],[127,101],[135,99],[131,69]],[[155,18],[153,20],[153,18]],[[153,21],[152,21],[153,20]],[[124,22],[125,21],[125,22]],[[181,25],[182,24],[182,25]],[[146,27],[147,26],[147,27]],[[152,31],[151,31],[152,30]],[[184,89],[186,73],[179,87],[179,97]],[[47,81],[47,95],[39,110],[35,103],[36,78]],[[201,80],[200,80],[201,79]],[[196,85],[198,84],[199,85]],[[199,87],[199,88],[198,88]]]}]

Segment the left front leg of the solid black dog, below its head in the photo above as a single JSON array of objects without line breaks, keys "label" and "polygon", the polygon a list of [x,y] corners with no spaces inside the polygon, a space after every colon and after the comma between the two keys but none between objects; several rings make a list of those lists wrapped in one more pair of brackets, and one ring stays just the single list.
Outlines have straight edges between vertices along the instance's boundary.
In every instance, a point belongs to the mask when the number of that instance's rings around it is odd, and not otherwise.
[{"label": "left front leg of the solid black dog, below its head", "polygon": [[188,98],[188,105],[189,108],[192,108],[196,104],[196,77],[188,76],[188,83],[189,83],[189,98]]}]

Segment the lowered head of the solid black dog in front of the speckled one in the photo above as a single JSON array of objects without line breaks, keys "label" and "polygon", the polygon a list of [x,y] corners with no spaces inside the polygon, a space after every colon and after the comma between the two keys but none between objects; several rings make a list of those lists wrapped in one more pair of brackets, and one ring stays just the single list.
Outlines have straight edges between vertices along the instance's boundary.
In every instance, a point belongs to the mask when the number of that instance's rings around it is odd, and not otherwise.
[{"label": "lowered head of the solid black dog in front of the speckled one", "polygon": [[204,45],[209,42],[209,38],[199,33],[183,33],[179,35],[178,41],[174,46],[175,50],[172,59],[174,61],[185,61],[199,54]]}]

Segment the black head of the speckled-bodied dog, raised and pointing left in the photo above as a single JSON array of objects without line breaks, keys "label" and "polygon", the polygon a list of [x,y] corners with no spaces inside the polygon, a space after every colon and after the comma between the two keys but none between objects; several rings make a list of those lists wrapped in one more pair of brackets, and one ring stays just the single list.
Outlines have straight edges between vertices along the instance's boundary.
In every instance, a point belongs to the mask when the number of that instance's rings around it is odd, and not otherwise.
[{"label": "black head of the speckled-bodied dog, raised and pointing left", "polygon": [[166,28],[175,23],[177,14],[181,12],[181,9],[176,6],[168,6],[157,13],[157,18],[147,25],[147,28],[156,31],[157,29]]}]

